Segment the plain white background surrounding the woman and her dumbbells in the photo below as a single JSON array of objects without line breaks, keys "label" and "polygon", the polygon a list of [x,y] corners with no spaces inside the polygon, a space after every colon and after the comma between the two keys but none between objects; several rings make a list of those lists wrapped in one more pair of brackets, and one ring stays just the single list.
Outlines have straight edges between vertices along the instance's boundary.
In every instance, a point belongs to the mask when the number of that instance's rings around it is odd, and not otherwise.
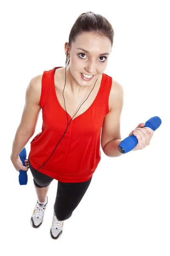
[{"label": "plain white background surrounding the woman and her dumbbells", "polygon": [[[159,116],[150,145],[101,161],[62,236],[51,239],[57,180],[39,229],[30,219],[37,194],[28,170],[20,186],[10,160],[25,93],[32,77],[65,66],[64,44],[77,17],[93,11],[108,19],[114,38],[105,73],[122,84],[122,140]],[[0,11],[1,251],[3,255],[170,256],[169,87],[170,9],[168,1],[3,1]],[[41,131],[42,112],[36,131]],[[26,145],[27,158],[30,141]],[[49,253],[49,254],[48,254]]]}]

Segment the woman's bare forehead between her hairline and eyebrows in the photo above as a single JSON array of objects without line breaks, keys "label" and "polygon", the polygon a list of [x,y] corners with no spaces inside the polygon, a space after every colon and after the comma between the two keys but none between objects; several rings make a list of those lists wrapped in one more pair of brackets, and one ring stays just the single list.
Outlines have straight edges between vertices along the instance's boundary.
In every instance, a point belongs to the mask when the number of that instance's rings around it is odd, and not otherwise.
[{"label": "woman's bare forehead between her hairline and eyebrows", "polygon": [[104,35],[101,36],[94,32],[84,32],[77,36],[73,47],[81,47],[90,52],[101,50],[111,52],[111,41]]}]

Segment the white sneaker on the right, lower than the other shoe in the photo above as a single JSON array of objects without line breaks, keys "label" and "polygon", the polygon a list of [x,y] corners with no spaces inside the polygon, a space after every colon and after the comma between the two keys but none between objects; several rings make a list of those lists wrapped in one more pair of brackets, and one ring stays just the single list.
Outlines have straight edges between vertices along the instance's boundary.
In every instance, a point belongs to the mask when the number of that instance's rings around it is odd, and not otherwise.
[{"label": "white sneaker on the right, lower than the other shoe", "polygon": [[50,230],[50,234],[53,239],[59,238],[59,236],[62,234],[63,224],[64,224],[64,221],[58,221],[56,218],[56,215],[54,213],[52,226],[51,226],[51,230]]}]

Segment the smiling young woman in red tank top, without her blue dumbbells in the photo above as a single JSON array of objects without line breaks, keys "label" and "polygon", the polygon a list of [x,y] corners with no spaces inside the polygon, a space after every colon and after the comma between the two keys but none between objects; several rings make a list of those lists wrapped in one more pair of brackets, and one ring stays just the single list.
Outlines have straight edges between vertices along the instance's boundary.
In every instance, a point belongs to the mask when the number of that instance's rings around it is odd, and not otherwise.
[{"label": "smiling young woman in red tank top, without her blue dumbbells", "polygon": [[[123,88],[104,73],[113,36],[105,17],[82,13],[65,43],[65,67],[35,76],[26,90],[11,161],[17,171],[29,168],[34,177],[38,199],[31,216],[33,227],[42,224],[49,185],[58,180],[50,230],[53,239],[62,234],[64,220],[71,217],[91,183],[101,159],[100,143],[108,157],[122,155],[118,145]],[[19,154],[34,134],[41,108],[42,131],[31,141],[24,167]],[[140,123],[131,134],[138,139],[135,151],[150,144],[153,130]]]}]

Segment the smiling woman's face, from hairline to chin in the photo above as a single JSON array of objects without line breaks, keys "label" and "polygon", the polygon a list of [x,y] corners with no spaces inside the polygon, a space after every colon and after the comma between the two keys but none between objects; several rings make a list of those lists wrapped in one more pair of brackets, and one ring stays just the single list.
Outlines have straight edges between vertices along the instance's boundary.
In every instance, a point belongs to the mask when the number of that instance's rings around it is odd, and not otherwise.
[{"label": "smiling woman's face, from hairline to chin", "polygon": [[[66,52],[68,51],[67,47],[65,48]],[[107,67],[108,57],[111,53],[111,41],[106,37],[95,35],[93,32],[85,32],[77,37],[68,53],[72,76],[78,84],[90,86],[104,73]],[[81,73],[94,76],[87,81],[82,78]]]}]

